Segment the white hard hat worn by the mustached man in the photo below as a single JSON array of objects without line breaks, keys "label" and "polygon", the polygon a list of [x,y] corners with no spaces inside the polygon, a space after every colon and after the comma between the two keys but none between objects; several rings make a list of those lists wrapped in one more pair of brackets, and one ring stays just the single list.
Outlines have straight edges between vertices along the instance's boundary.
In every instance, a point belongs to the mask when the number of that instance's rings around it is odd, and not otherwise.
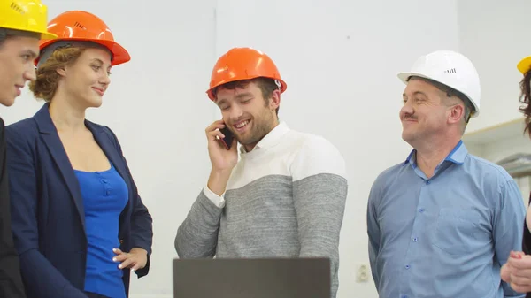
[{"label": "white hard hat worn by the mustached man", "polygon": [[480,76],[472,62],[451,50],[436,50],[421,56],[415,61],[408,73],[398,73],[398,78],[407,84],[411,76],[438,81],[464,94],[475,111],[471,117],[480,114],[481,86]]}]

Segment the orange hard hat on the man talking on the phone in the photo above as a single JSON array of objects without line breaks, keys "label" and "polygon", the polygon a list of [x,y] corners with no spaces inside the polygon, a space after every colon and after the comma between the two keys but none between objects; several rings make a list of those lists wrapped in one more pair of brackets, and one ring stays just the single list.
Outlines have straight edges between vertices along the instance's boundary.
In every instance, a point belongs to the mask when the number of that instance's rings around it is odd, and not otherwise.
[{"label": "orange hard hat on the man talking on the phone", "polygon": [[213,88],[235,80],[250,80],[258,77],[277,80],[281,93],[288,88],[286,82],[281,79],[281,73],[273,60],[266,54],[252,48],[233,48],[219,57],[214,65],[210,88],[206,90],[206,94],[213,101],[216,99],[212,93]]}]

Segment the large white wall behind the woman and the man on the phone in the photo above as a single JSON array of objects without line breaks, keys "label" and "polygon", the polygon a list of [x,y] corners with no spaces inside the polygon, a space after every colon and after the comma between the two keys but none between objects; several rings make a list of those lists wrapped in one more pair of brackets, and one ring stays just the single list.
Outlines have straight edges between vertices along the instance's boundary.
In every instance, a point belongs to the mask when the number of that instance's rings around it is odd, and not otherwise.
[{"label": "large white wall behind the woman and the man on the phone", "polygon": [[[282,120],[324,135],[342,151],[350,191],[338,297],[377,296],[372,280],[355,282],[356,268],[368,264],[369,188],[410,150],[400,137],[404,85],[396,73],[429,51],[459,49],[457,0],[46,4],[52,17],[72,9],[99,14],[133,57],[113,69],[104,106],[89,112],[119,136],[154,218],[150,275],[132,280],[132,298],[172,297],[173,237],[206,182],[204,127],[219,117],[204,90],[216,58],[235,46],[263,50],[279,66],[289,86]],[[40,104],[25,93],[0,112],[9,124],[30,117]]]}]

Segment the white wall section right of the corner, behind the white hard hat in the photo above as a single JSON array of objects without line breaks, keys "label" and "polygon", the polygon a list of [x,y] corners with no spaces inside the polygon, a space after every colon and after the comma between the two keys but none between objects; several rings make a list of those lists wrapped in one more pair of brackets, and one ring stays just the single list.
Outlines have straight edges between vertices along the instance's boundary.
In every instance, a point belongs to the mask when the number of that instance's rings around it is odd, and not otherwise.
[{"label": "white wall section right of the corner, behind the white hard hat", "polygon": [[460,50],[481,75],[481,115],[467,131],[521,117],[516,65],[531,56],[529,11],[528,0],[458,1]]}]

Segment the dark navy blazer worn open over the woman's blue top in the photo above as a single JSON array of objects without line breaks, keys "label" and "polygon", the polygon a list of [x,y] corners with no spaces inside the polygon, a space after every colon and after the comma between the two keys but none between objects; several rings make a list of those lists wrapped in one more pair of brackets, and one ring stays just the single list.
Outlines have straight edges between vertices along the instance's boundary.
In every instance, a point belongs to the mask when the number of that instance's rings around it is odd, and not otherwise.
[{"label": "dark navy blazer worn open over the woman's blue top", "polygon": [[[28,298],[86,298],[87,236],[79,182],[53,125],[49,104],[5,128],[12,230]],[[138,195],[119,141],[107,126],[85,125],[126,181],[129,201],[119,217],[120,249],[144,248],[150,268],[152,218]],[[123,270],[127,296],[130,270]]]}]

